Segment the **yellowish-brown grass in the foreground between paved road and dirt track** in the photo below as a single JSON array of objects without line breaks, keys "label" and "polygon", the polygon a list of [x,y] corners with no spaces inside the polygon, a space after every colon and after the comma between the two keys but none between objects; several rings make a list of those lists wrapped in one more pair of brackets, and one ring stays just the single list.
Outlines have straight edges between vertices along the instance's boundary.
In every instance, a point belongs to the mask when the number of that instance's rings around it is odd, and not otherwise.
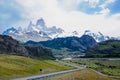
[{"label": "yellowish-brown grass in the foreground between paved road and dirt track", "polygon": [[56,76],[46,80],[117,80],[117,79],[101,76],[96,72],[92,71],[91,69],[85,69],[78,72]]}]

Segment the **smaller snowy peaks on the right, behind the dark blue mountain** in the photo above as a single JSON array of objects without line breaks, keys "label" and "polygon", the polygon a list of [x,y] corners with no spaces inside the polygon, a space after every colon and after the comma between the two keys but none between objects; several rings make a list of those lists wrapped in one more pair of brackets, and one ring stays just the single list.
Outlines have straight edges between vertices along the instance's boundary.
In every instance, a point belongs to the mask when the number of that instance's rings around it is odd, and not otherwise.
[{"label": "smaller snowy peaks on the right, behind the dark blue mountain", "polygon": [[86,30],[84,32],[84,35],[92,36],[96,40],[96,42],[102,42],[102,41],[106,41],[106,40],[116,40],[117,39],[115,37],[109,37],[109,36],[103,35],[101,32],[93,33],[90,30]]}]

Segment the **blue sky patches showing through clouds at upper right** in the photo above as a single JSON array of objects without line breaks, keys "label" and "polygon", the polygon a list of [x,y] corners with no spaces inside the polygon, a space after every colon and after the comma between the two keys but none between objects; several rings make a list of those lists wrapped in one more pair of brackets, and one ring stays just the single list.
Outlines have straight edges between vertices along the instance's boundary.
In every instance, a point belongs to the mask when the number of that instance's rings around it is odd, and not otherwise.
[{"label": "blue sky patches showing through clouds at upper right", "polygon": [[[91,15],[95,14],[96,12],[99,13],[100,11],[103,10],[101,5],[105,5],[106,1],[107,0],[100,0],[98,3],[95,4],[93,3],[94,7],[90,5],[89,1],[83,1],[78,5],[77,10]],[[104,6],[104,8],[110,10],[109,15],[120,13],[120,0],[113,0],[113,1],[114,2],[110,2],[106,4],[106,6]]]}]

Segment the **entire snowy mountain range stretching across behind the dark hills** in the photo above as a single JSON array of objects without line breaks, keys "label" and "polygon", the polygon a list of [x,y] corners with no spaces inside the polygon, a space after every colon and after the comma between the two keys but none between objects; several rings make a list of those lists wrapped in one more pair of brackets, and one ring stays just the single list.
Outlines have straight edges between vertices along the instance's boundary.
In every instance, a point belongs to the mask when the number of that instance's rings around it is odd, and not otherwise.
[{"label": "entire snowy mountain range stretching across behind the dark hills", "polygon": [[[30,23],[28,24],[28,27],[25,29],[23,29],[22,27],[18,27],[18,28],[11,27],[5,30],[2,34],[9,35],[21,42],[27,42],[29,40],[39,42],[39,41],[51,40],[54,38],[82,36],[77,31],[66,32],[61,28],[57,28],[56,26],[47,27],[43,18],[38,19],[36,24],[33,24],[32,21],[30,21]],[[96,40],[96,42],[102,42],[102,41],[111,40],[111,39],[112,40],[118,39],[115,37],[105,36],[101,32],[93,33],[90,30],[86,30],[83,33],[83,35],[89,35],[93,37]]]}]

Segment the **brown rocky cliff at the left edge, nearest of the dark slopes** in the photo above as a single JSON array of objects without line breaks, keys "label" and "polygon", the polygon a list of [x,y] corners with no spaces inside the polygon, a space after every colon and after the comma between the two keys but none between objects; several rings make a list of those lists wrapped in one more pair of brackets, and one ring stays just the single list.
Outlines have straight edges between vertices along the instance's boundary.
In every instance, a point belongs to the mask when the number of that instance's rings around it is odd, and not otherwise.
[{"label": "brown rocky cliff at the left edge, nearest of the dark slopes", "polygon": [[27,49],[23,45],[19,44],[18,41],[12,37],[0,35],[0,53],[3,52],[24,56],[29,55]]}]

